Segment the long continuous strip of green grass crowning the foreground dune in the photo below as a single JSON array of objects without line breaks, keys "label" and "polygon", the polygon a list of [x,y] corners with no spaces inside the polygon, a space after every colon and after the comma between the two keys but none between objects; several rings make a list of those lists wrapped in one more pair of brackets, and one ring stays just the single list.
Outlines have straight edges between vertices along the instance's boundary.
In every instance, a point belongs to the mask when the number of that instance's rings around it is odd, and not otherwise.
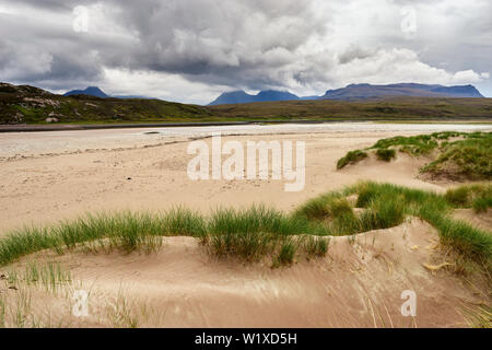
[{"label": "long continuous strip of green grass crowning the foreground dune", "polygon": [[[355,207],[360,210],[354,211],[347,199],[349,196],[356,196]],[[397,226],[409,215],[427,221],[437,229],[443,243],[465,256],[489,261],[490,232],[454,220],[450,212],[455,208],[483,210],[490,202],[490,184],[464,186],[437,195],[368,182],[318,196],[292,213],[265,206],[218,209],[209,217],[185,208],[164,213],[103,213],[50,228],[11,232],[0,240],[0,265],[44,249],[58,254],[78,248],[95,253],[116,249],[124,254],[150,254],[161,248],[163,236],[177,235],[200,240],[208,252],[218,257],[245,261],[271,257],[274,266],[289,265],[296,255],[325,256],[328,236]],[[30,273],[37,276],[38,272],[32,269]]]}]

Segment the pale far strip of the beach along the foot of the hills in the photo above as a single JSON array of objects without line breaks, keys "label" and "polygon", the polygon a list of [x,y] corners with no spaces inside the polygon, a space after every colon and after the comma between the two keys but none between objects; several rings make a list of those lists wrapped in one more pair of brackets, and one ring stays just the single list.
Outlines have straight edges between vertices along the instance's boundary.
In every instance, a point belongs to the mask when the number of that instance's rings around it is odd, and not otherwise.
[{"label": "pale far strip of the beach along the foot of the hills", "polygon": [[0,133],[0,156],[141,147],[166,142],[176,138],[206,137],[216,132],[227,136],[319,132],[429,133],[436,131],[472,132],[488,130],[492,130],[492,125],[328,122],[11,132]]}]

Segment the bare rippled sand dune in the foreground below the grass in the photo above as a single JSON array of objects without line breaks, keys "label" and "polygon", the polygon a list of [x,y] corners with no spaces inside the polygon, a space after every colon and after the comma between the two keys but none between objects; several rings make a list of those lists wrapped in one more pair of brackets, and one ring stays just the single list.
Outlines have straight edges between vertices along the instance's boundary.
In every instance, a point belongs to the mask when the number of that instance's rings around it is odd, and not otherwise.
[{"label": "bare rippled sand dune in the foreground below the grass", "polygon": [[[70,315],[70,293],[37,291],[39,322],[77,327],[462,327],[466,310],[488,300],[487,285],[464,280],[426,223],[332,237],[326,258],[290,268],[215,259],[190,237],[165,238],[157,254],[51,253],[91,292],[89,316]],[[21,264],[22,266],[22,264]],[[19,267],[17,267],[19,268]],[[21,268],[22,269],[22,268]],[[401,315],[401,293],[417,294],[415,317]],[[9,295],[19,291],[7,291]],[[43,316],[45,315],[45,316]]]}]

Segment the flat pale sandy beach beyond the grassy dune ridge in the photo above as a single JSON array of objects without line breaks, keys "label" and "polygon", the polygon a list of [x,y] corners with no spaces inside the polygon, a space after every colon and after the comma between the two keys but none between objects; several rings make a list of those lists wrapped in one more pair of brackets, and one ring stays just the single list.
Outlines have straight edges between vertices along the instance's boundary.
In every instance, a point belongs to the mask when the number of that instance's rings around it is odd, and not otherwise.
[{"label": "flat pale sandy beach beyond the grassy dune ridge", "polygon": [[[177,205],[209,211],[218,206],[262,202],[291,210],[320,192],[359,179],[442,190],[450,184],[417,178],[419,160],[400,158],[391,164],[367,160],[342,171],[336,170],[336,163],[348,151],[370,147],[382,138],[488,129],[492,128],[345,122],[4,133],[0,135],[0,232],[85,212],[165,210]],[[305,141],[305,189],[285,192],[283,182],[272,179],[190,180],[186,173],[192,159],[187,154],[189,142],[218,131],[224,141]]]}]

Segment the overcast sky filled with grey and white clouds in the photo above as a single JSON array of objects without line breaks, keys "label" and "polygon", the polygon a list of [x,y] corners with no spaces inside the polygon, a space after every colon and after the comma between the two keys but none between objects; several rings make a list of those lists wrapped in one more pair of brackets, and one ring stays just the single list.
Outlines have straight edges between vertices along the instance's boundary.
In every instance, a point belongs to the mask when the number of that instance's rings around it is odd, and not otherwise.
[{"label": "overcast sky filled with grey and white clouds", "polygon": [[225,91],[472,84],[490,0],[0,0],[0,81],[207,104]]}]

